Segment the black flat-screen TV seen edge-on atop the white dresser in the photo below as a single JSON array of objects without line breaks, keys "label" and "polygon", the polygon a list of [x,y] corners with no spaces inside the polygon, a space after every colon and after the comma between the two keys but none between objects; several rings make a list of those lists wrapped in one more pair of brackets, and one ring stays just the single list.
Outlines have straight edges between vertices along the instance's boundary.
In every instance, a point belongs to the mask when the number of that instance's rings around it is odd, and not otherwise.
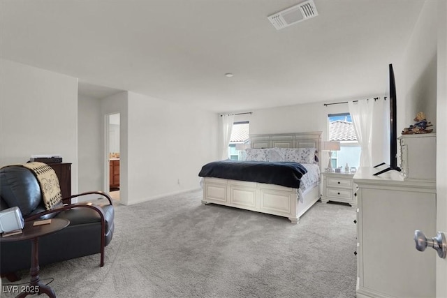
[{"label": "black flat-screen TV seen edge-on atop the white dresser", "polygon": [[[393,64],[389,66],[390,72],[390,166],[374,175],[379,175],[390,170],[400,172],[400,167],[397,166],[397,104],[396,104],[396,82],[394,77]],[[385,165],[381,163],[375,167]]]}]

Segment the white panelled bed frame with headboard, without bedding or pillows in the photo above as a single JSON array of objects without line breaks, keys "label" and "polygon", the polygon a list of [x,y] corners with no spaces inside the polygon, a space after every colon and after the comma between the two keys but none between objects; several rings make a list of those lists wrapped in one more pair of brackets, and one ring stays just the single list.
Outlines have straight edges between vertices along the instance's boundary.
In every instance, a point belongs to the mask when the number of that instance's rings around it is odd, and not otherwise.
[{"label": "white panelled bed frame with headboard, without bedding or pillows", "polygon": [[[251,148],[316,148],[321,168],[321,131],[275,135],[250,135]],[[298,200],[298,189],[249,181],[204,177],[202,204],[214,203],[287,217],[298,223],[320,199],[320,184]]]}]

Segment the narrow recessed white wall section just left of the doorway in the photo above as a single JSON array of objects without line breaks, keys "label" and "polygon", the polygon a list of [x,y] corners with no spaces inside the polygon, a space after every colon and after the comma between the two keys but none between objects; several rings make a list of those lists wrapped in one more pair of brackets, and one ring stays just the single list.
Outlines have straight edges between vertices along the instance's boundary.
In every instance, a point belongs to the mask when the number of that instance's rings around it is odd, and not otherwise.
[{"label": "narrow recessed white wall section just left of the doorway", "polygon": [[[78,97],[78,191],[103,190],[101,100]],[[80,198],[87,200],[87,198]]]}]

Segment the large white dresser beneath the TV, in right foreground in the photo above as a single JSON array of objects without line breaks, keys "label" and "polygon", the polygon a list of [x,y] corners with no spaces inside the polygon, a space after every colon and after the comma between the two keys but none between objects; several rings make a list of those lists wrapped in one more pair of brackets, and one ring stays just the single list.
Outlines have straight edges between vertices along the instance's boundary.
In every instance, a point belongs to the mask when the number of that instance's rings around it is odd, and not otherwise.
[{"label": "large white dresser beneath the TV, in right foreground", "polygon": [[357,297],[435,297],[436,254],[417,251],[413,235],[436,230],[436,184],[395,170],[374,176],[379,170],[360,167],[353,177]]}]

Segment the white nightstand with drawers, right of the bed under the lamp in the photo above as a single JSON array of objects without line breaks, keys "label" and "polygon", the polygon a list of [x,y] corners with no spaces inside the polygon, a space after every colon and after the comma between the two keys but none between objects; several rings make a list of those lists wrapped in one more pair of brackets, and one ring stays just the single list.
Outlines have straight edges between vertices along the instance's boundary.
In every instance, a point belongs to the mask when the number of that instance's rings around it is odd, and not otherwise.
[{"label": "white nightstand with drawers, right of the bed under the lamp", "polygon": [[335,201],[351,204],[357,207],[357,197],[354,195],[355,185],[351,173],[323,172],[323,198],[321,202]]}]

